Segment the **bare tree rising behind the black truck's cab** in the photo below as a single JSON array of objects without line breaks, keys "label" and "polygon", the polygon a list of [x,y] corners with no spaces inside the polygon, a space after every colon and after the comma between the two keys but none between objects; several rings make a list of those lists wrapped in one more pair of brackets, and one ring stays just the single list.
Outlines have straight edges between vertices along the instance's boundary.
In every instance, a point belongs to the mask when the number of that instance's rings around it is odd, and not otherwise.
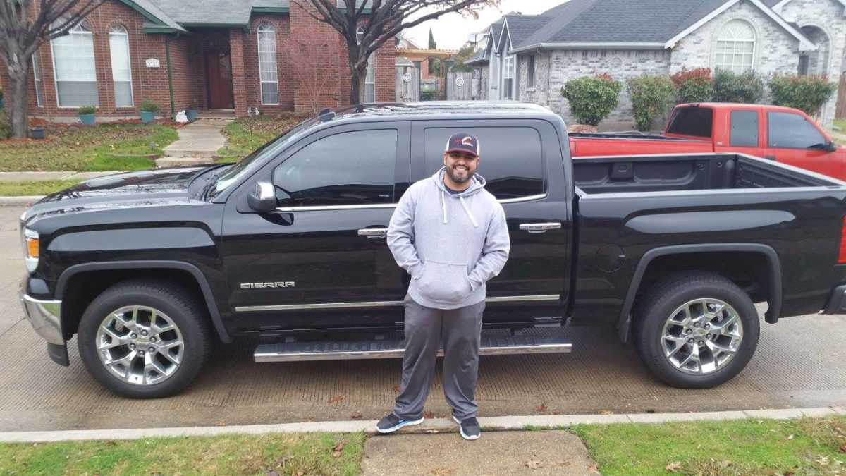
[{"label": "bare tree rising behind the black truck's cab", "polygon": [[[443,14],[476,15],[499,0],[291,0],[312,18],[338,30],[347,43],[352,87],[349,102],[365,95],[367,58],[400,31]],[[367,12],[367,13],[365,13]]]}]

